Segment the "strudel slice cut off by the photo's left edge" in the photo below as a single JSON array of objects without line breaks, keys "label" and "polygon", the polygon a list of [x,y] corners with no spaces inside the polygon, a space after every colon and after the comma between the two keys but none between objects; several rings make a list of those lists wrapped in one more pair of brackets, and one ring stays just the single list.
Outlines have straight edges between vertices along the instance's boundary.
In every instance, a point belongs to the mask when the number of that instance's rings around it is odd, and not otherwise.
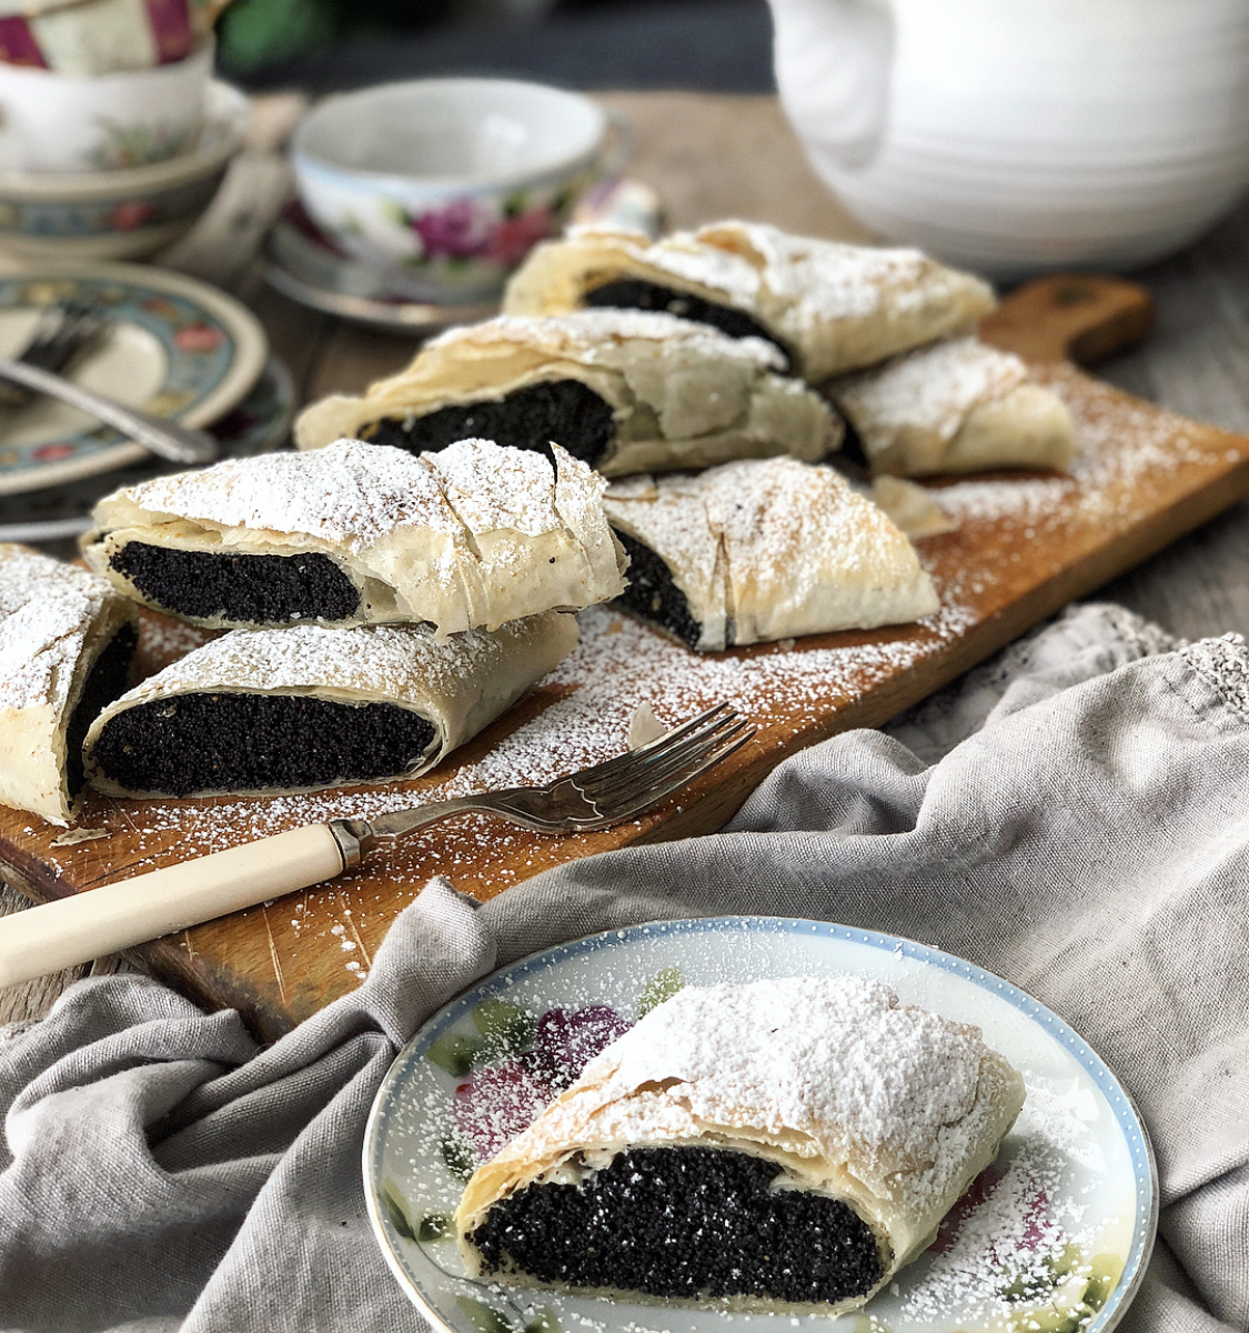
[{"label": "strudel slice cut off by the photo's left edge", "polygon": [[0,802],[68,824],[83,740],[129,685],[134,607],[95,575],[0,544]]}]

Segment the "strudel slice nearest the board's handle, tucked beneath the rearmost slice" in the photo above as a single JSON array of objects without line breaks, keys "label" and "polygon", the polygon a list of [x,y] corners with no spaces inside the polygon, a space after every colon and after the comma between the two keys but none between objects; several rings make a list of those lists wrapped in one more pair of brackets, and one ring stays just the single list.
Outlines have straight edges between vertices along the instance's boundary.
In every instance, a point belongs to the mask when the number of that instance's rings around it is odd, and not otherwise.
[{"label": "strudel slice nearest the board's handle, tucked beneath the rearmost slice", "polygon": [[1075,451],[1067,404],[1017,356],[975,337],[908,352],[826,392],[877,473],[1065,468]]}]

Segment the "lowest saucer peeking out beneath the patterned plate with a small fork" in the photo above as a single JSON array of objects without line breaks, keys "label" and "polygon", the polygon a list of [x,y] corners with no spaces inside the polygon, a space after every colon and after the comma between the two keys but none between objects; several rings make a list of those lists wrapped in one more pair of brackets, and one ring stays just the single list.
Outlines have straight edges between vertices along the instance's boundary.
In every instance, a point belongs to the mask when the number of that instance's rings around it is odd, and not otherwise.
[{"label": "lowest saucer peeking out beneath the patterned plate with a small fork", "polygon": [[[269,357],[252,392],[208,432],[216,439],[222,459],[268,453],[286,443],[296,407],[290,372],[277,357]],[[109,492],[177,471],[176,464],[149,456],[144,463],[81,481],[0,496],[0,541],[68,541],[87,532],[91,511]]]}]

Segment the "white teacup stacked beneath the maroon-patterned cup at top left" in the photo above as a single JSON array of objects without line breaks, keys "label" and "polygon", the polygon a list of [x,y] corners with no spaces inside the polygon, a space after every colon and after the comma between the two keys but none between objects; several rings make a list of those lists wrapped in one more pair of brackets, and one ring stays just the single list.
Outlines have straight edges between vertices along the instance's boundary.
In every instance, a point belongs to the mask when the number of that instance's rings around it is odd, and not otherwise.
[{"label": "white teacup stacked beneath the maroon-patterned cup at top left", "polygon": [[0,63],[0,172],[93,172],[194,147],[213,43],[185,60],[107,75]]}]

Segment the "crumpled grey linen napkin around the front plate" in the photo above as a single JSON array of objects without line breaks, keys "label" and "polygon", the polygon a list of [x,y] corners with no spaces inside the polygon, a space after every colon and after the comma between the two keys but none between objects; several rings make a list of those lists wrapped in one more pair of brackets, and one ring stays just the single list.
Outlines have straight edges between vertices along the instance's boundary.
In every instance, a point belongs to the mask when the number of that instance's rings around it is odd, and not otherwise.
[{"label": "crumpled grey linen napkin around the front plate", "polygon": [[1162,1225],[1123,1328],[1249,1328],[1249,649],[1083,607],[900,718],[783,764],[714,837],[427,888],[361,989],[257,1049],[136,977],[0,1040],[0,1328],[421,1329],[370,1238],[395,1046],[535,949],[646,920],[927,941],[1069,1020],[1153,1134]]}]

